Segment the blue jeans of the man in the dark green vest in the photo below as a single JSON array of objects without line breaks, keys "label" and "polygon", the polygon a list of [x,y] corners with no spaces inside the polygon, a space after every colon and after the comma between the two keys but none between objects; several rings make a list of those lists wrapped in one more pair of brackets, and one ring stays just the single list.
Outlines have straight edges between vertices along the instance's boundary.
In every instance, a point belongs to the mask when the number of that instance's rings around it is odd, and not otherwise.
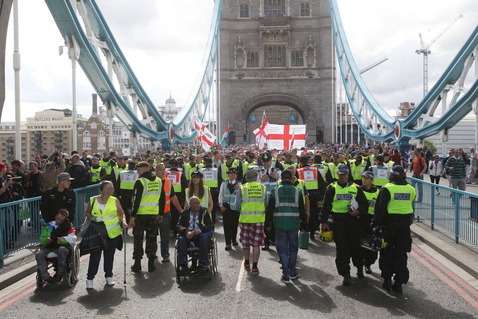
[{"label": "blue jeans of the man in the dark green vest", "polygon": [[282,264],[282,275],[290,278],[297,274],[299,230],[275,230],[275,248]]}]

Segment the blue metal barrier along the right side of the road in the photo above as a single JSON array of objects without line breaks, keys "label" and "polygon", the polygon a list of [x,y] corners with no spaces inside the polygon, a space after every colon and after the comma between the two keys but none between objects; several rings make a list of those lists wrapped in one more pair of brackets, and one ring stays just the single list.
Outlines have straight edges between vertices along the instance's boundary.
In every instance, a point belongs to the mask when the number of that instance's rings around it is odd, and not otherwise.
[{"label": "blue metal barrier along the right side of the road", "polygon": [[463,239],[478,246],[478,195],[407,177],[417,190],[414,214],[425,219],[432,230],[438,226],[455,235],[455,243]]}]

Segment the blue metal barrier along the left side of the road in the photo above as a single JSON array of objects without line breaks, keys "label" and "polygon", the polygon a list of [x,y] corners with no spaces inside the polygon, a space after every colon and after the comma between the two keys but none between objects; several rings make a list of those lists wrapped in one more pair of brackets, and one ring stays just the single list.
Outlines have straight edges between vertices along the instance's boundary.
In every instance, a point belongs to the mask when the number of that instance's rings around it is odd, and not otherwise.
[{"label": "blue metal barrier along the left side of the road", "polygon": [[[73,189],[76,195],[74,224],[79,227],[85,220],[90,197],[100,194],[100,185]],[[14,252],[37,245],[44,220],[40,212],[41,196],[0,204],[0,268],[3,260]]]}]

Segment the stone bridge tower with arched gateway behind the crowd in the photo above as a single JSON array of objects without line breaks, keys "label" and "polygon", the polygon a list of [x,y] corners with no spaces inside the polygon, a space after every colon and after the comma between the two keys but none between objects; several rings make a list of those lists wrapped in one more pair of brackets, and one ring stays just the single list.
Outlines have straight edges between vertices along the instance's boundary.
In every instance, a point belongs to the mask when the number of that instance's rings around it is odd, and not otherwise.
[{"label": "stone bridge tower with arched gateway behind the crowd", "polygon": [[220,124],[228,143],[272,124],[306,124],[307,143],[332,141],[335,49],[328,0],[223,0]]}]

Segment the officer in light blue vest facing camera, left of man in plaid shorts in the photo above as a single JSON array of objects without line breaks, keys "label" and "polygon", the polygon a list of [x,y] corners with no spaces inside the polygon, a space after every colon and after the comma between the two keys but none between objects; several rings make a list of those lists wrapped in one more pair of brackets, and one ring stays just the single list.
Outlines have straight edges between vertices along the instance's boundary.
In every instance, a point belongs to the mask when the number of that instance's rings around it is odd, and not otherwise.
[{"label": "officer in light blue vest facing camera, left of man in plaid shorts", "polygon": [[[224,163],[223,163],[224,164]],[[238,235],[239,211],[236,208],[236,195],[240,187],[237,181],[238,168],[233,166],[228,168],[228,179],[221,183],[219,190],[219,205],[223,213],[224,239],[226,240],[225,250],[231,250],[231,244],[239,245],[236,240]]]}]

